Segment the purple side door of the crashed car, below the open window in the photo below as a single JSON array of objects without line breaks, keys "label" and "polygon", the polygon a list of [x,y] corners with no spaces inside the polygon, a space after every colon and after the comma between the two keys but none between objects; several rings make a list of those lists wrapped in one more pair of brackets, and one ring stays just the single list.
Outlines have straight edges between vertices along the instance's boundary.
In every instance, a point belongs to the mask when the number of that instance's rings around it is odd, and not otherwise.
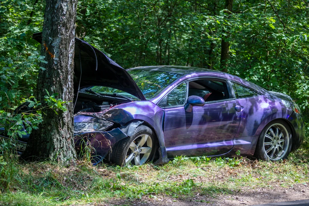
[{"label": "purple side door of the crashed car, below the open window", "polygon": [[[226,81],[226,85],[231,83]],[[184,96],[179,87],[184,87],[184,84],[172,90],[161,104],[166,105],[163,133],[167,155],[214,156],[229,152],[234,146],[233,138],[240,122],[240,112],[235,111],[238,105],[235,95],[205,102],[204,106],[194,106],[192,112],[186,112],[184,101],[175,99],[186,100],[188,88]]]}]

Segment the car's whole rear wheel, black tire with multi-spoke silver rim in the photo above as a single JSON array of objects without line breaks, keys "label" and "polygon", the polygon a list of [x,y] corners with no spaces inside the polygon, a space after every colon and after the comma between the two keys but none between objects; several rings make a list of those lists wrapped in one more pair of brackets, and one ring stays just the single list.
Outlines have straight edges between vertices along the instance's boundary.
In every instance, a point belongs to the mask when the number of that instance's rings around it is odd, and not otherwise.
[{"label": "car's whole rear wheel, black tire with multi-spoke silver rim", "polygon": [[292,132],[283,120],[275,120],[260,133],[254,156],[261,160],[279,161],[288,157],[292,148]]}]

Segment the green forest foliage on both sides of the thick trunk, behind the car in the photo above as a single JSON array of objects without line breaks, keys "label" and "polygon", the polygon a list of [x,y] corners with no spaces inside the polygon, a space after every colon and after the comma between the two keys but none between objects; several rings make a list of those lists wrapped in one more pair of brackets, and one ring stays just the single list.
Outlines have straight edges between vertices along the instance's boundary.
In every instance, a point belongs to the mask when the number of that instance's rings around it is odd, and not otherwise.
[{"label": "green forest foliage on both sides of the thick trunk, behind the car", "polygon": [[[216,70],[223,37],[231,47],[229,73],[289,94],[308,116],[306,5],[234,1],[233,12],[224,6],[224,1],[216,0],[82,0],[78,2],[76,36],[105,51],[124,68],[187,65]],[[19,136],[22,118],[33,121],[27,132],[42,121],[40,112],[14,115],[14,110],[25,101],[33,103],[38,69],[44,70],[38,66],[44,62],[38,53],[40,45],[31,38],[42,29],[43,8],[41,1],[0,3],[0,124],[18,125],[8,132]],[[49,100],[49,106],[64,109],[60,99],[53,96]]]}]

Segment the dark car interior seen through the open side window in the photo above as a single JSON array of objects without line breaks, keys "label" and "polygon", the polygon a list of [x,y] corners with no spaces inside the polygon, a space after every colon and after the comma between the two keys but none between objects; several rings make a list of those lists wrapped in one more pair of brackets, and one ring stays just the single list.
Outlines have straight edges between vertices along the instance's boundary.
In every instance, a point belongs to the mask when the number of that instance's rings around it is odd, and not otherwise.
[{"label": "dark car interior seen through the open side window", "polygon": [[196,80],[189,82],[188,96],[196,95],[205,100],[205,102],[229,99],[229,92],[226,82],[214,80]]}]

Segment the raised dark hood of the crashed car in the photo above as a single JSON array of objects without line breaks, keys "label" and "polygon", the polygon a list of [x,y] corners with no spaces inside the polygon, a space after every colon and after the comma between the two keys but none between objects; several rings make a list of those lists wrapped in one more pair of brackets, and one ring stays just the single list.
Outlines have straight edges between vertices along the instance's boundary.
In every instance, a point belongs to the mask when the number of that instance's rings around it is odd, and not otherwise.
[{"label": "raised dark hood of the crashed car", "polygon": [[[33,39],[42,43],[42,32],[34,33]],[[81,88],[107,86],[146,100],[142,91],[125,69],[97,48],[75,37],[74,90],[78,87],[79,78],[81,78]]]}]

